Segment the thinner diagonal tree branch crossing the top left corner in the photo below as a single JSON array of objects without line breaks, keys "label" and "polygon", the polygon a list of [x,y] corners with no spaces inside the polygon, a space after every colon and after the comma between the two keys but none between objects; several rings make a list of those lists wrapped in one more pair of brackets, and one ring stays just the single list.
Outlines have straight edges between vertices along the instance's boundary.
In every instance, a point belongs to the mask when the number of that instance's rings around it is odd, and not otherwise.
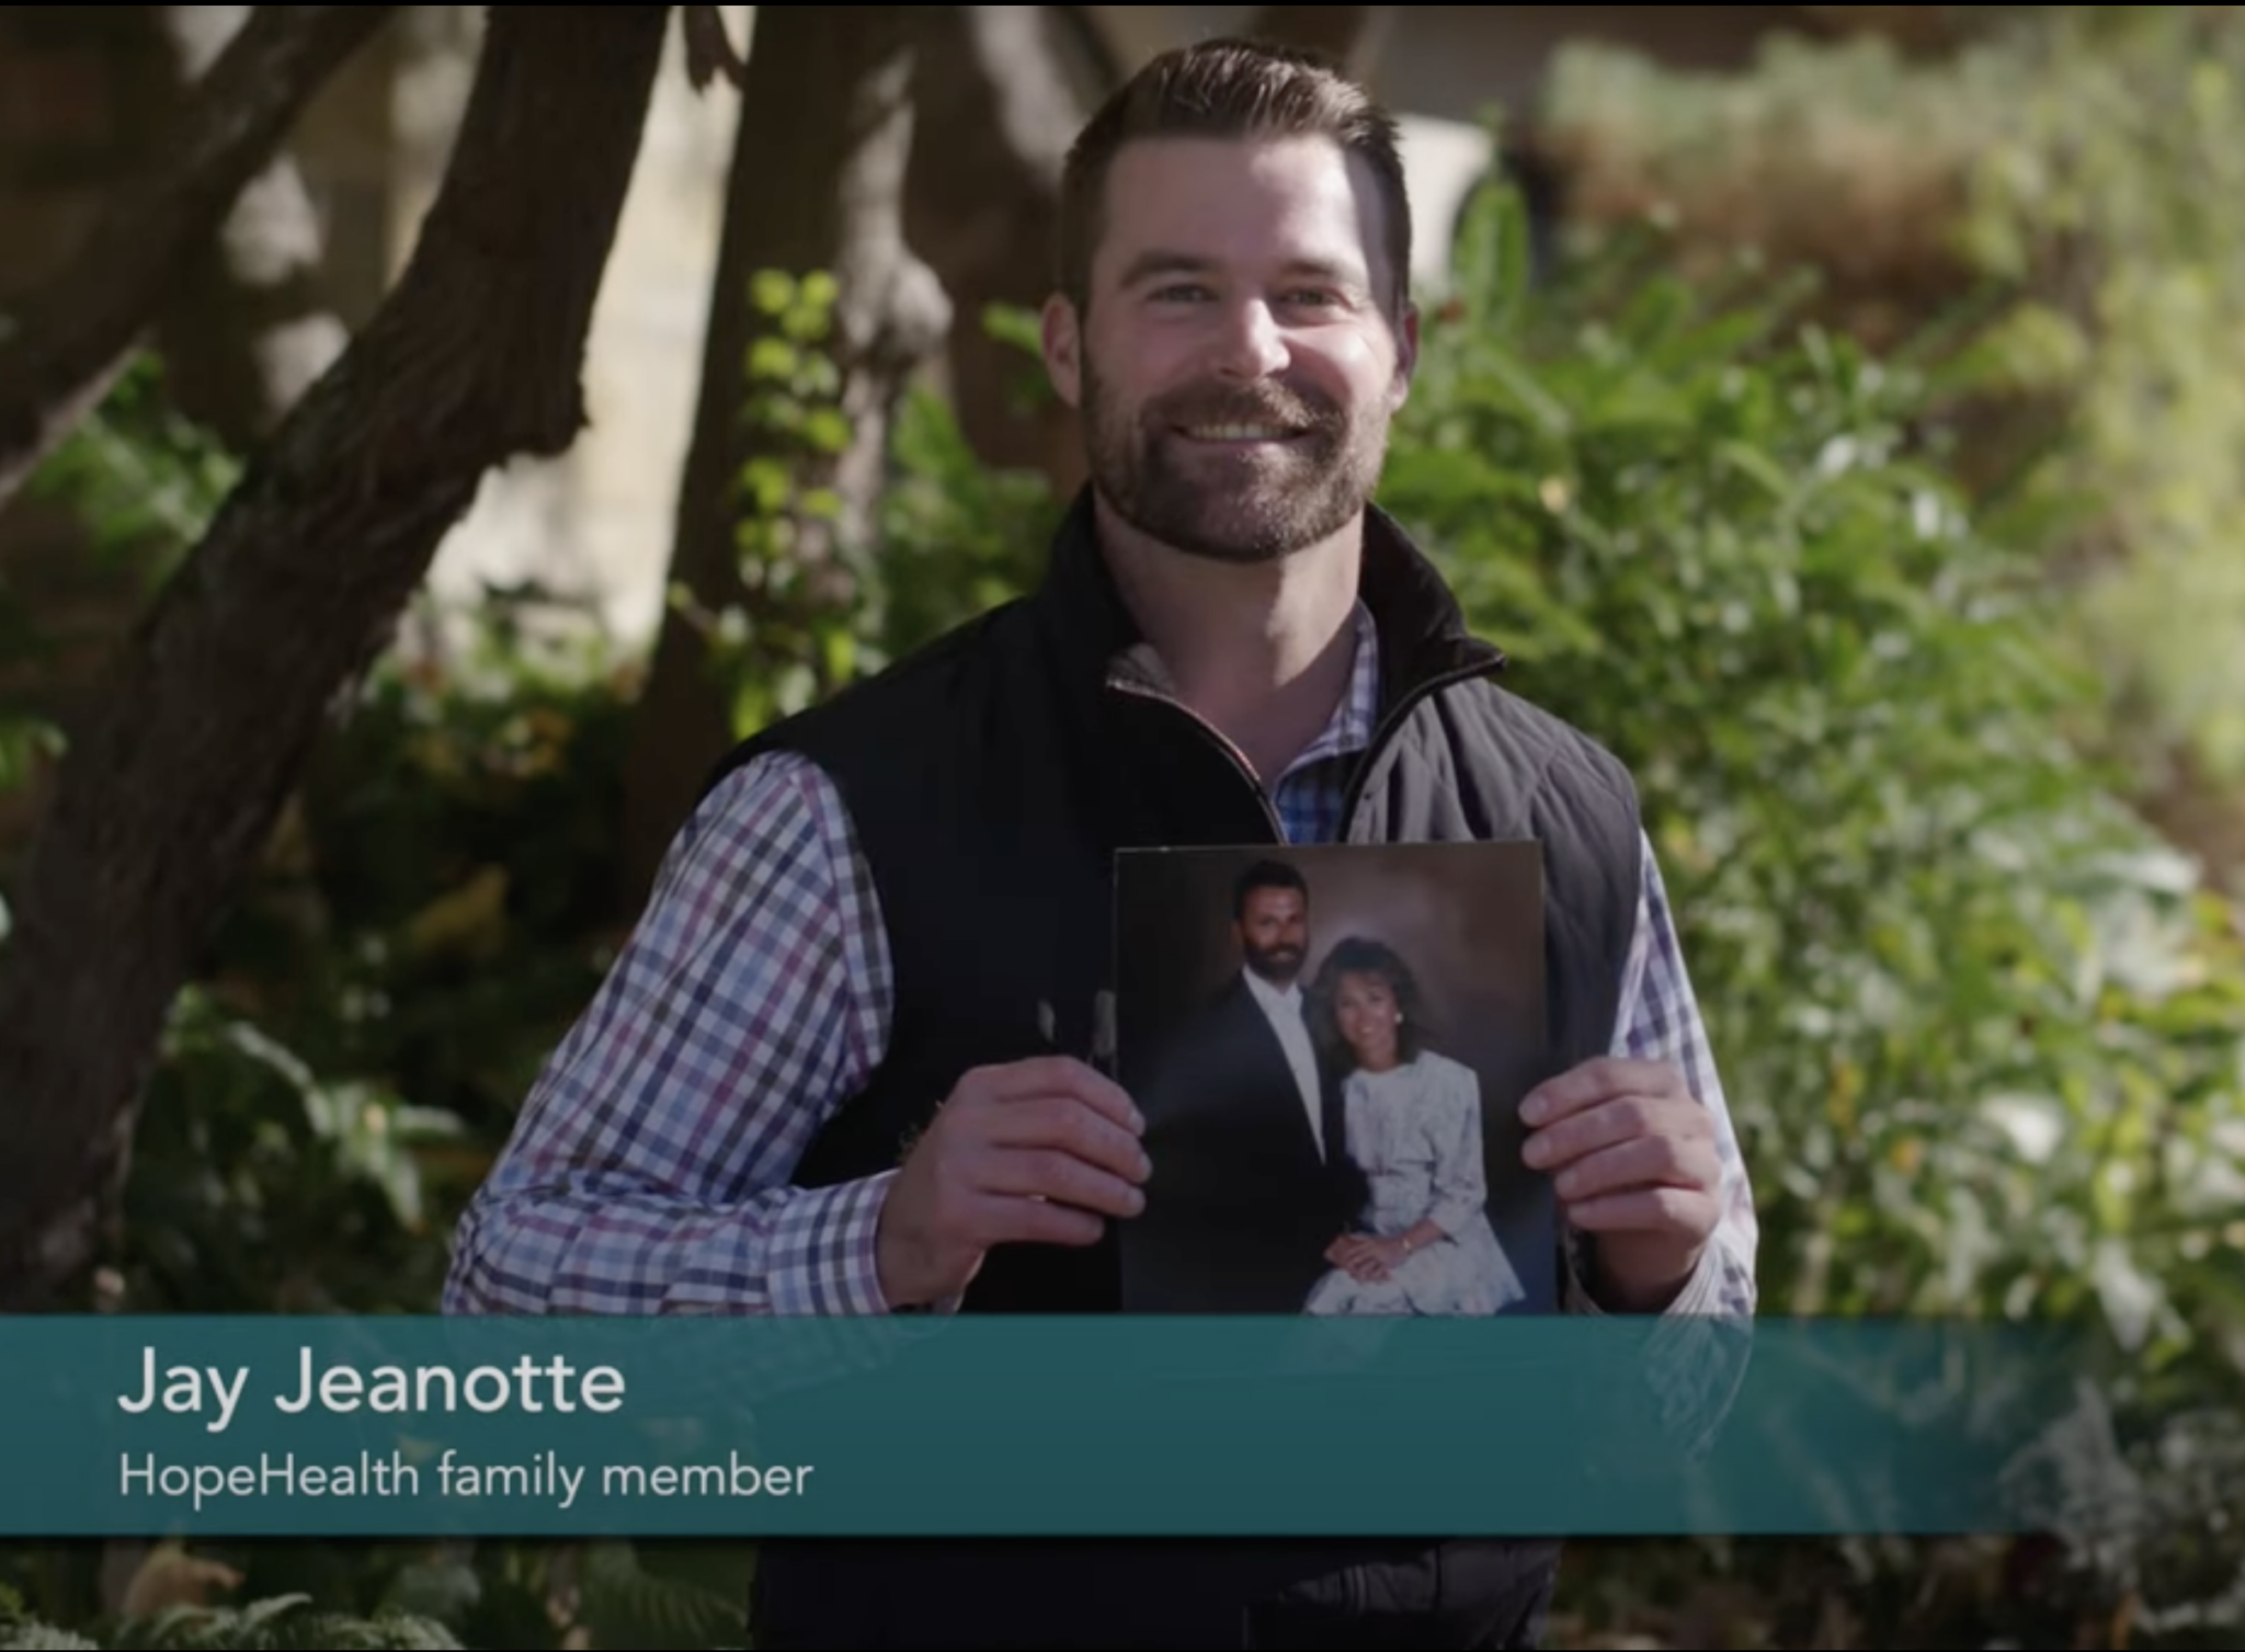
[{"label": "thinner diagonal tree branch crossing the top left corner", "polygon": [[180,267],[233,209],[312,92],[395,7],[258,7],[153,164],[0,343],[0,505],[90,413]]}]

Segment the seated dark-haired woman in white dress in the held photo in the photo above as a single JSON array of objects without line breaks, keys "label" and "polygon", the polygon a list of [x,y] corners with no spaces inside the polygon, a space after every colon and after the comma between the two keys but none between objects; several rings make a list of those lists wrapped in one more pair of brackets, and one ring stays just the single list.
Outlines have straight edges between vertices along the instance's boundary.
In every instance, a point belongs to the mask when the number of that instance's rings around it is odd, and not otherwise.
[{"label": "seated dark-haired woman in white dress in the held photo", "polygon": [[1479,1077],[1426,1046],[1410,965],[1378,940],[1343,940],[1311,990],[1311,1026],[1343,1073],[1367,1196],[1302,1311],[1502,1313],[1527,1297],[1488,1226]]}]

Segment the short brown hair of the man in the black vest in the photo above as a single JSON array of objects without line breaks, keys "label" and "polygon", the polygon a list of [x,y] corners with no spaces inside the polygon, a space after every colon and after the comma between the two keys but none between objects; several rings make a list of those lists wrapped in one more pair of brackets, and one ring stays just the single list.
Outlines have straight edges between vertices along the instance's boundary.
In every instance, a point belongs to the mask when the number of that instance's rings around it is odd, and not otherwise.
[{"label": "short brown hair of the man in the black vest", "polygon": [[1410,195],[1396,123],[1340,67],[1300,47],[1208,40],[1163,52],[1134,74],[1078,135],[1060,184],[1060,292],[1084,314],[1091,254],[1107,213],[1107,173],[1143,137],[1329,137],[1358,155],[1381,191],[1394,312],[1410,294]]}]

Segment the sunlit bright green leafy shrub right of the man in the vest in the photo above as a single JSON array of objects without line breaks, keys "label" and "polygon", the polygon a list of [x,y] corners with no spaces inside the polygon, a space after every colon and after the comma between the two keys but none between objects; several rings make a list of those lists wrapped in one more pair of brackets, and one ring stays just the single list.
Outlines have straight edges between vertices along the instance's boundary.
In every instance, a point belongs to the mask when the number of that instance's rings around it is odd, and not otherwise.
[{"label": "sunlit bright green leafy shrub right of the man in the vest", "polygon": [[2092,1322],[2180,1499],[2182,1407],[2245,1394],[2236,916],[2063,738],[2099,685],[1942,467],[1937,361],[1623,251],[1527,303],[1522,256],[1484,200],[1383,503],[1639,777],[1765,1311]]}]

